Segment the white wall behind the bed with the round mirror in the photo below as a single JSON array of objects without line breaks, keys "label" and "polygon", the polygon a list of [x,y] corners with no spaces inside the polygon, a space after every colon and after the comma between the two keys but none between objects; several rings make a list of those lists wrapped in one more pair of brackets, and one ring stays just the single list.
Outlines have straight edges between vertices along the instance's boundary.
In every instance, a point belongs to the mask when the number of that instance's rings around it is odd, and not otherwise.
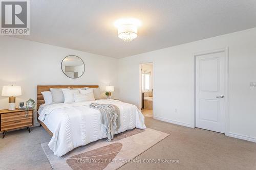
[{"label": "white wall behind the bed with the round mirror", "polygon": [[[82,77],[71,79],[61,70],[61,61],[68,55],[79,56],[86,70]],[[0,92],[4,85],[22,86],[22,96],[16,98],[25,102],[36,101],[36,85],[105,85],[117,87],[117,59],[68,48],[22,40],[13,37],[0,37]],[[111,66],[110,66],[111,65]],[[0,95],[0,109],[8,108],[8,97]],[[35,116],[36,119],[36,116]]]}]

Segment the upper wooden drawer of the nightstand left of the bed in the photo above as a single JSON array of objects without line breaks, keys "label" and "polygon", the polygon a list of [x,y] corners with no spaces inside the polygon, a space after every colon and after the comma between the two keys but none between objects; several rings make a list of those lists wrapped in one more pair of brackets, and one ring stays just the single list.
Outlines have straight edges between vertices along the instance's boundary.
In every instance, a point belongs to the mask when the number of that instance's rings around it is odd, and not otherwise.
[{"label": "upper wooden drawer of the nightstand left of the bed", "polygon": [[32,118],[32,116],[33,116],[32,114],[33,114],[32,110],[29,111],[28,117],[26,117],[26,112],[25,111],[2,114],[1,115],[1,123]]}]

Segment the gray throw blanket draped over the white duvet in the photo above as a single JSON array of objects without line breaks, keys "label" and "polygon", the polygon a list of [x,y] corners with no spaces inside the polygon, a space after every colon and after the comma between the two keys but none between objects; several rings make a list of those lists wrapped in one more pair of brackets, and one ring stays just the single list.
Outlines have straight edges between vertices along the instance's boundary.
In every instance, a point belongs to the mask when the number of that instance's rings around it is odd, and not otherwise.
[{"label": "gray throw blanket draped over the white duvet", "polygon": [[114,132],[120,127],[119,108],[110,104],[91,103],[90,108],[100,111],[100,123],[103,125],[108,141],[114,138]]}]

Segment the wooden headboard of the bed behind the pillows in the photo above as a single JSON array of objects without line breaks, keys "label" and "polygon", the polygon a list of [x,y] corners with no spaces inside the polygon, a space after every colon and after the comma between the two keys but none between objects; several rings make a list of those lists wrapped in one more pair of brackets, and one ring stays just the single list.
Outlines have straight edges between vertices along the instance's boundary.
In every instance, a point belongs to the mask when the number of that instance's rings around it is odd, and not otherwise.
[{"label": "wooden headboard of the bed behind the pillows", "polygon": [[41,92],[43,91],[49,91],[50,88],[83,88],[83,87],[89,87],[89,88],[99,88],[98,85],[47,85],[47,86],[37,86],[37,102],[36,102],[36,106],[37,106],[37,110],[39,109],[39,106],[42,104],[45,104],[45,100],[44,100],[44,96],[42,96]]}]

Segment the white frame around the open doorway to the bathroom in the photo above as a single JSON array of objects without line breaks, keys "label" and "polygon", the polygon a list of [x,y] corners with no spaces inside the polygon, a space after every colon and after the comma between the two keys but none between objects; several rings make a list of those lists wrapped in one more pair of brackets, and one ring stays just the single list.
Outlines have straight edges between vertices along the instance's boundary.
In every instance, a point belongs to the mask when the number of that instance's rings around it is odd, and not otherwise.
[{"label": "white frame around the open doorway to the bathroom", "polygon": [[[141,108],[142,108],[142,81],[141,81],[141,79],[142,79],[142,65],[143,64],[148,64],[148,63],[152,63],[152,67],[153,67],[153,71],[152,71],[152,77],[153,77],[153,82],[152,82],[152,85],[153,85],[153,87],[155,87],[155,74],[154,74],[154,72],[155,72],[155,68],[154,68],[154,62],[153,61],[146,61],[146,62],[142,62],[142,63],[140,63],[139,64],[139,100],[140,100],[140,102],[139,102],[139,110],[141,111]],[[153,89],[153,92],[152,92],[152,95],[153,95],[153,113],[152,113],[152,117],[154,118],[154,98],[155,98],[155,95],[154,95],[154,89]]]}]

